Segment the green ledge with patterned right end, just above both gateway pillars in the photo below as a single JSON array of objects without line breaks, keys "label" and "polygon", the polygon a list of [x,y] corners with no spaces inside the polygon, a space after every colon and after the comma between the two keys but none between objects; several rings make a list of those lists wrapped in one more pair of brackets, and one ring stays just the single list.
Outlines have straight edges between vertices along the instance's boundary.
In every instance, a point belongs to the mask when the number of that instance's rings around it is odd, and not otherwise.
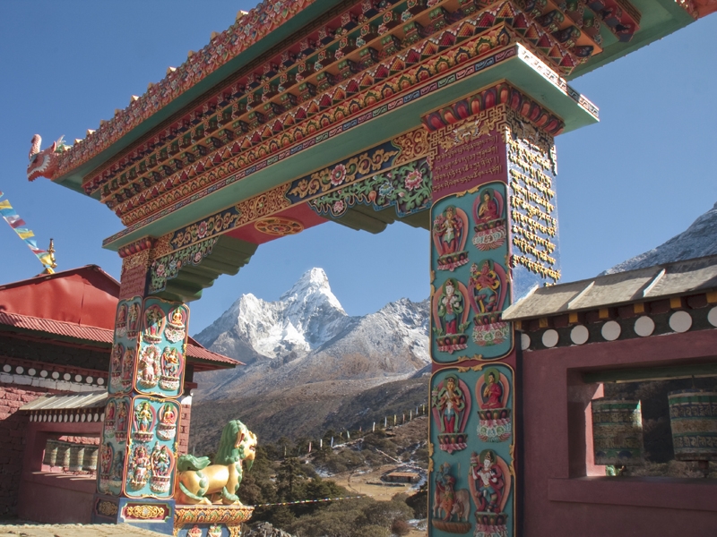
[{"label": "green ledge with patterned right end, just above both gateway pillars", "polygon": [[[131,226],[129,228],[131,231],[123,231],[109,237],[103,246],[108,250],[117,251],[122,246],[145,236],[160,237],[168,234],[178,227],[226,209],[239,200],[246,200],[281,183],[288,183],[301,175],[329,166],[341,158],[358,154],[382,141],[409,132],[420,126],[421,115],[487,88],[498,81],[508,81],[517,90],[523,90],[526,95],[563,119],[565,121],[563,132],[574,131],[599,121],[597,108],[569,88],[566,81],[542,64],[537,56],[532,55],[522,45],[511,45],[511,47],[517,47],[518,53],[509,59],[460,81],[454,81],[441,90],[410,100],[401,107],[394,108],[393,111],[350,128],[347,132],[298,151],[290,158],[265,166],[252,175],[217,189],[147,225]],[[584,101],[585,107],[578,104],[578,98],[581,102]],[[384,106],[379,105],[377,108]],[[592,108],[592,111],[589,108]],[[377,136],[376,132],[380,132],[380,135]]]}]

